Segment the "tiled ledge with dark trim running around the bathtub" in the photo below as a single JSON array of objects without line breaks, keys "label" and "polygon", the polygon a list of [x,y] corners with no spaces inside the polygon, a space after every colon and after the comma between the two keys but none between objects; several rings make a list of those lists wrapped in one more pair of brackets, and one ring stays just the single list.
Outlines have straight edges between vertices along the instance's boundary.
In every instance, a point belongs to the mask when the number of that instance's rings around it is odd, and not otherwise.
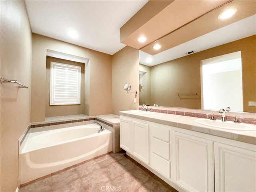
[{"label": "tiled ledge with dark trim running around the bathtub", "polygon": [[[20,136],[19,145],[21,146],[22,143],[26,140],[26,136],[28,133],[92,124],[94,122],[100,123],[104,128],[106,128],[112,132],[113,152],[120,151],[120,148],[119,148],[120,119],[119,119],[119,116],[113,115],[113,114],[30,123],[26,127],[23,134]],[[117,137],[118,137],[118,141],[116,141]],[[117,143],[118,143],[118,146],[117,146]]]}]

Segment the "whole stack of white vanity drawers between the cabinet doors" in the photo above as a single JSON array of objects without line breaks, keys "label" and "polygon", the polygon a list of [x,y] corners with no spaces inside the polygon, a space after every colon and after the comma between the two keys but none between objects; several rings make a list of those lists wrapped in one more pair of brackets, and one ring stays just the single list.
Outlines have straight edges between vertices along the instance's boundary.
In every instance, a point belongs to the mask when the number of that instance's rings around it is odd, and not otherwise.
[{"label": "whole stack of white vanity drawers between the cabinet doors", "polygon": [[170,179],[170,126],[150,124],[149,165]]}]

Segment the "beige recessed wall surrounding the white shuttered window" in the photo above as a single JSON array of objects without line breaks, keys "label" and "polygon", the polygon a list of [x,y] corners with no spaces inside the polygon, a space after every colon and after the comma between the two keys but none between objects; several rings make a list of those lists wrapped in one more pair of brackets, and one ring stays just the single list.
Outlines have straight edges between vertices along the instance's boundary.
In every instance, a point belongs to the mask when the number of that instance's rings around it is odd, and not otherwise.
[{"label": "beige recessed wall surrounding the white shuttered window", "polygon": [[[50,64],[51,61],[81,67],[81,104],[79,105],[50,105]],[[84,63],[59,58],[46,57],[46,102],[45,117],[84,114]]]}]

